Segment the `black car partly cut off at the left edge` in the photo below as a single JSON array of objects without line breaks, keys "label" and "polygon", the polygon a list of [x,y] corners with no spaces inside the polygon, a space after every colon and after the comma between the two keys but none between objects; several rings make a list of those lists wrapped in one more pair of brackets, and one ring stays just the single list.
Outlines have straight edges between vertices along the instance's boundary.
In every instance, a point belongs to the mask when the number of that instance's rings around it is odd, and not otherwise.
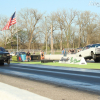
[{"label": "black car partly cut off at the left edge", "polygon": [[0,65],[4,65],[4,62],[10,64],[10,53],[3,47],[0,47]]}]

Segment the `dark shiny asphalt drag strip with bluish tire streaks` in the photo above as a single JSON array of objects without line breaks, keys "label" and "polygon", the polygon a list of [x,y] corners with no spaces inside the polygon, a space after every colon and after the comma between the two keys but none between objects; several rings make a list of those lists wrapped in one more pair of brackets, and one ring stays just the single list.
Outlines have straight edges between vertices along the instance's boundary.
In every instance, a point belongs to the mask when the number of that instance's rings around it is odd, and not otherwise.
[{"label": "dark shiny asphalt drag strip with bluish tire streaks", "polygon": [[100,70],[35,64],[5,64],[0,73],[100,94]]}]

